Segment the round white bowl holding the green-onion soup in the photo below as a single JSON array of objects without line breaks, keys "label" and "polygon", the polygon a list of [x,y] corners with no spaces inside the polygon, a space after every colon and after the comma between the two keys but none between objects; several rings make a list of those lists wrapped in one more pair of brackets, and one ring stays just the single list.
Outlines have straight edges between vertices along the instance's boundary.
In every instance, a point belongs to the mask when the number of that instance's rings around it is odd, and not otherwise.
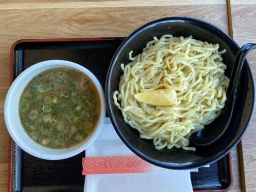
[{"label": "round white bowl holding the green-onion soup", "polygon": [[[99,121],[91,137],[87,138],[78,145],[67,149],[51,149],[36,143],[28,136],[28,134],[23,129],[19,117],[19,101],[26,85],[32,80],[33,77],[35,77],[39,73],[56,67],[70,67],[79,70],[87,75],[96,85],[101,105]],[[11,84],[4,103],[4,120],[12,139],[19,145],[19,147],[21,147],[27,153],[31,154],[32,156],[46,160],[66,159],[75,156],[88,148],[98,136],[105,119],[105,114],[106,106],[104,92],[102,86],[100,85],[94,74],[79,64],[65,60],[42,61],[32,65],[31,67],[23,71]]]}]

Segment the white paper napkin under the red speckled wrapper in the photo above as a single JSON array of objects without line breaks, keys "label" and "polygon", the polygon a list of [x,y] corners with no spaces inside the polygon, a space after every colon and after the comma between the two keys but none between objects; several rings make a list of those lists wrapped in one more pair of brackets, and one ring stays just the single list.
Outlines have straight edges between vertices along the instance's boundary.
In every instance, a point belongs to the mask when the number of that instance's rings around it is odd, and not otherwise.
[{"label": "white paper napkin under the red speckled wrapper", "polygon": [[[134,155],[116,134],[109,119],[99,136],[86,150],[86,157]],[[85,176],[85,192],[192,192],[190,172],[97,174]]]}]

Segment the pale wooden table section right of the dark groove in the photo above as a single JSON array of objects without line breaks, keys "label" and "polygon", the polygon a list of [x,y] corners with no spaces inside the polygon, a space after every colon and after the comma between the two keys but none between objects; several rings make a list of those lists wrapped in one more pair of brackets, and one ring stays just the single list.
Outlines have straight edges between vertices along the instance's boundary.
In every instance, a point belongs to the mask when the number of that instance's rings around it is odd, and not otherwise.
[{"label": "pale wooden table section right of the dark groove", "polygon": [[[246,4],[248,3],[248,4]],[[239,4],[239,5],[238,5]],[[234,40],[242,46],[245,43],[256,43],[256,0],[231,0]],[[247,59],[256,77],[256,50]],[[255,108],[254,108],[255,110]],[[248,192],[256,191],[256,113],[243,137],[245,175]]]}]

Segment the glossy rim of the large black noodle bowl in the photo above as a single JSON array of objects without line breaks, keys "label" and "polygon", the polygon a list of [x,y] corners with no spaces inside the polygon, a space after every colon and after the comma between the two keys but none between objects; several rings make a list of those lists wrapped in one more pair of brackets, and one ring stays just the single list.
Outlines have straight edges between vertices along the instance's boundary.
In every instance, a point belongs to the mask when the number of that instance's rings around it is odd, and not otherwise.
[{"label": "glossy rim of the large black noodle bowl", "polygon": [[178,164],[178,163],[165,163],[165,162],[160,162],[154,159],[151,159],[150,157],[144,155],[142,152],[140,152],[139,150],[135,149],[133,146],[131,146],[131,144],[129,143],[129,141],[127,140],[127,138],[123,135],[123,133],[120,131],[118,125],[117,125],[117,121],[116,118],[113,115],[113,111],[111,108],[111,98],[110,97],[110,75],[113,73],[113,68],[114,65],[116,64],[116,60],[119,56],[119,54],[122,52],[123,48],[128,44],[128,42],[131,41],[131,39],[133,39],[134,36],[136,36],[138,33],[140,33],[141,31],[143,31],[144,29],[147,29],[149,27],[154,27],[157,24],[160,23],[167,23],[167,22],[187,22],[187,23],[191,23],[193,25],[200,25],[200,27],[202,28],[207,28],[208,31],[214,31],[217,34],[220,34],[220,36],[222,36],[222,38],[224,39],[225,42],[230,42],[231,44],[229,44],[230,47],[234,47],[237,50],[239,50],[239,46],[238,44],[231,38],[229,37],[222,29],[220,29],[219,27],[214,26],[211,23],[208,23],[206,21],[200,20],[200,19],[196,19],[196,18],[192,18],[192,17],[165,17],[165,18],[161,18],[161,19],[157,19],[154,20],[152,22],[149,22],[145,25],[143,25],[142,27],[137,28],[135,31],[133,31],[126,39],[125,41],[122,42],[122,44],[118,47],[117,51],[115,52],[115,54],[112,57],[112,60],[110,62],[109,65],[109,69],[107,72],[107,76],[106,76],[106,85],[105,85],[105,94],[106,94],[106,100],[107,100],[107,112],[109,114],[110,120],[118,134],[118,136],[121,138],[121,140],[126,144],[126,146],[133,152],[135,153],[137,156],[139,156],[140,158],[142,158],[143,160],[153,164],[153,165],[157,165],[163,168],[171,168],[171,169],[192,169],[192,168],[198,168],[201,166],[205,166],[205,165],[209,165],[215,161],[218,161],[219,159],[221,159],[222,157],[224,157],[242,138],[242,136],[244,135],[246,128],[248,127],[249,123],[251,122],[252,119],[252,115],[253,115],[253,109],[254,109],[254,105],[255,105],[255,82],[253,79],[253,73],[252,73],[252,69],[250,68],[250,65],[248,64],[248,61],[246,60],[246,63],[244,65],[244,67],[246,67],[249,71],[248,76],[250,75],[252,77],[252,86],[253,86],[253,105],[252,105],[252,109],[250,112],[250,116],[248,119],[248,122],[245,125],[245,129],[242,131],[241,135],[238,137],[238,139],[234,142],[233,145],[227,147],[224,151],[224,153],[218,154],[216,155],[215,158],[212,158],[211,160],[203,160],[199,163],[192,163],[192,164]]}]

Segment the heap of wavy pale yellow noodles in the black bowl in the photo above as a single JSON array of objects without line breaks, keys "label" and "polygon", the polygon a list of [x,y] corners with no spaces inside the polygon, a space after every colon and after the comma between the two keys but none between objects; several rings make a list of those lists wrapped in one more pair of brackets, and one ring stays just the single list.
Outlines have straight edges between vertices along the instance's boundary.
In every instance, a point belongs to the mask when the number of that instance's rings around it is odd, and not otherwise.
[{"label": "heap of wavy pale yellow noodles in the black bowl", "polygon": [[[153,139],[156,149],[167,147],[194,151],[188,147],[192,133],[211,123],[224,107],[228,78],[226,65],[213,45],[166,34],[147,43],[143,52],[121,68],[124,75],[114,92],[115,105],[124,120],[137,129],[141,138]],[[177,103],[151,106],[134,99],[134,94],[157,90],[174,90]]]}]

